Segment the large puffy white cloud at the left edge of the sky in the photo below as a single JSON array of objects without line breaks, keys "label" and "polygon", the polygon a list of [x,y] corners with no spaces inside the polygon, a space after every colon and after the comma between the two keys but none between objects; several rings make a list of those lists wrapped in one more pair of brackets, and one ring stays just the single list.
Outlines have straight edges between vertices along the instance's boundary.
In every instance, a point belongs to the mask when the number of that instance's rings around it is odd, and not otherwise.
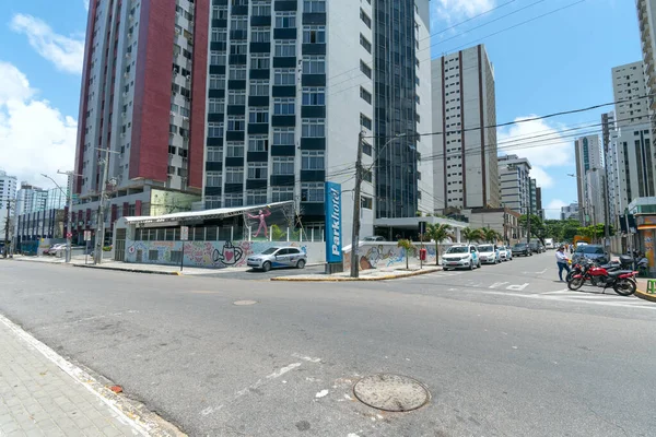
[{"label": "large puffy white cloud at the left edge of the sky", "polygon": [[19,180],[50,187],[42,173],[66,184],[57,170],[73,169],[78,122],[39,98],[27,78],[0,61],[1,167]]}]

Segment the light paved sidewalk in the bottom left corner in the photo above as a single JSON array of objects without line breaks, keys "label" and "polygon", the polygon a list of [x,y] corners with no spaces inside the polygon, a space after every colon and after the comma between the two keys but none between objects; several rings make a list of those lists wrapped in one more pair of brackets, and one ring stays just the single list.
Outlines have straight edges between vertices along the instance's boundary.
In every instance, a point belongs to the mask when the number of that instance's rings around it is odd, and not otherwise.
[{"label": "light paved sidewalk in the bottom left corner", "polygon": [[148,435],[5,320],[0,318],[0,436]]}]

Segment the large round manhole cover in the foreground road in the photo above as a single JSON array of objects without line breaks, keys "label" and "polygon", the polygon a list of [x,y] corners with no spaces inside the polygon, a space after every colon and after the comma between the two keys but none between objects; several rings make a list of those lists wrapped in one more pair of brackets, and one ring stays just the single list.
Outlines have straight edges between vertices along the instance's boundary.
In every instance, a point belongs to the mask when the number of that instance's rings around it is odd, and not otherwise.
[{"label": "large round manhole cover in the foreground road", "polygon": [[429,401],[429,390],[415,379],[400,375],[373,375],[359,380],[353,393],[374,409],[393,412],[417,410]]}]

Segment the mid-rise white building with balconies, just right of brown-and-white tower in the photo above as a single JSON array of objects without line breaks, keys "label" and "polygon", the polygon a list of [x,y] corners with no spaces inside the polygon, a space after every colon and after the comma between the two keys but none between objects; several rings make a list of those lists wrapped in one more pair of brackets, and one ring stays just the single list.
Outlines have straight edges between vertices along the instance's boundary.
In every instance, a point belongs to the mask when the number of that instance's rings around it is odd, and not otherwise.
[{"label": "mid-rise white building with balconies, just right of brown-and-white tower", "polygon": [[[535,192],[531,196],[530,163],[525,157],[517,155],[500,156],[497,162],[499,187],[501,204],[519,213],[528,214],[531,203],[537,209]],[[532,210],[536,214],[536,210]]]}]

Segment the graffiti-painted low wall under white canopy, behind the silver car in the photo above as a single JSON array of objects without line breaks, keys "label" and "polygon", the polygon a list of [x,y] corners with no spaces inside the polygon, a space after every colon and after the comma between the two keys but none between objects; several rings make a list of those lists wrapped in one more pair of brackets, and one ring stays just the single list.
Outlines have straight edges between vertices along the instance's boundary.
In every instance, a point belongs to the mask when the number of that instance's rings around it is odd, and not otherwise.
[{"label": "graffiti-painted low wall under white canopy, behind the silver car", "polygon": [[[179,264],[181,245],[181,241],[127,241],[126,261],[151,264]],[[311,257],[308,246],[313,244],[289,243],[286,245],[297,247]],[[323,246],[323,243],[318,243],[317,245]],[[246,260],[249,256],[261,253],[270,247],[279,246],[270,241],[185,241],[184,262],[187,267],[211,269],[246,267]],[[175,257],[173,257],[174,253],[176,255]],[[321,255],[317,253],[317,256],[320,257]]]}]

